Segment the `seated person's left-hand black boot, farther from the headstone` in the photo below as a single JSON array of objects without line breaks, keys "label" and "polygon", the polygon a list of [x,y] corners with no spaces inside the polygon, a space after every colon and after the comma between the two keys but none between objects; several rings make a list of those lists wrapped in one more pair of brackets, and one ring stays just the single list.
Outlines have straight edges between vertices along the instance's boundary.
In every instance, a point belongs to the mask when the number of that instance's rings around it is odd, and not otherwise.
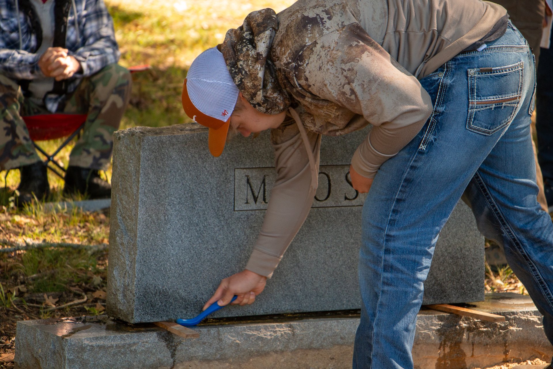
[{"label": "seated person's left-hand black boot, farther from the headstone", "polygon": [[15,204],[18,207],[29,204],[33,201],[34,196],[41,200],[50,194],[46,165],[43,162],[23,165],[23,167],[19,167],[19,172],[21,174],[17,188],[19,195],[15,196]]}]

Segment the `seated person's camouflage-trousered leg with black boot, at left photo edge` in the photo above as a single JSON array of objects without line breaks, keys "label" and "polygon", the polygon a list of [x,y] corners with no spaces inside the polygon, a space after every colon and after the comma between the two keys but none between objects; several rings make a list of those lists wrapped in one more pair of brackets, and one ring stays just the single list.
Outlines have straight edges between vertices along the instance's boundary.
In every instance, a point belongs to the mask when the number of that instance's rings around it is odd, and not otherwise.
[{"label": "seated person's camouflage-trousered leg with black boot, at left photo edge", "polygon": [[21,179],[17,188],[18,205],[41,199],[50,188],[46,167],[41,162],[29,137],[29,131],[21,118],[24,97],[15,81],[0,75],[0,108],[2,133],[0,133],[0,170],[19,168]]}]

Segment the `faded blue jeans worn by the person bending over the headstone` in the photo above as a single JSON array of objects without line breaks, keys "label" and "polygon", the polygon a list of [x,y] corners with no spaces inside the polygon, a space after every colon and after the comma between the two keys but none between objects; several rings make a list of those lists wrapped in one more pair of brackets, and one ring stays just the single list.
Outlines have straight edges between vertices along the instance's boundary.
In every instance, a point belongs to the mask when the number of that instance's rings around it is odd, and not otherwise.
[{"label": "faded blue jeans worn by the person bending over the headstone", "polygon": [[478,229],[504,246],[553,339],[553,224],[536,200],[526,41],[509,22],[486,49],[461,53],[420,82],[434,112],[382,165],[363,206],[355,369],[413,369],[424,282],[463,193]]}]

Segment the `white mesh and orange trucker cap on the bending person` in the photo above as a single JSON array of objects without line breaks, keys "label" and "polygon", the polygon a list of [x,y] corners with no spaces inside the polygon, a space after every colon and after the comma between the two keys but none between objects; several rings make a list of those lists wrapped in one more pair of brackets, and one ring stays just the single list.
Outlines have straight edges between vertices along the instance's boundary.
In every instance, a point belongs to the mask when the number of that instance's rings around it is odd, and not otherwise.
[{"label": "white mesh and orange trucker cap on the bending person", "polygon": [[205,50],[192,62],[182,86],[182,107],[193,121],[209,128],[207,141],[214,157],[225,148],[238,93],[217,48]]}]

